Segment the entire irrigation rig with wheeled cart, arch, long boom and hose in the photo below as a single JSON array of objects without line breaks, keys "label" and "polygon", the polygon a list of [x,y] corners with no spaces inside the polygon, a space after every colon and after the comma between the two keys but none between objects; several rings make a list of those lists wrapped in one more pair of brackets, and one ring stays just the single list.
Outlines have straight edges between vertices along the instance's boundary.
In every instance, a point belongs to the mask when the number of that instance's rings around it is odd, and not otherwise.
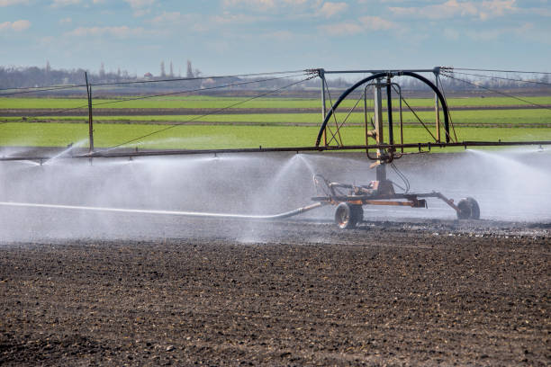
[{"label": "entire irrigation rig with wheeled cart, arch, long boom and hose", "polygon": [[[326,76],[330,74],[362,74],[364,75],[354,85],[346,89],[339,98],[333,103],[330,97],[330,90],[326,80]],[[435,83],[431,82],[427,77],[421,74],[429,74],[435,76]],[[336,183],[327,180],[321,175],[314,175],[313,180],[318,192],[318,196],[312,197],[311,205],[296,210],[287,211],[285,213],[270,215],[270,216],[247,216],[247,215],[231,215],[231,214],[211,214],[189,211],[162,211],[164,214],[175,214],[193,217],[215,217],[215,218],[235,218],[235,219],[282,219],[292,217],[308,210],[320,208],[321,206],[334,205],[335,222],[339,228],[354,228],[357,223],[364,218],[364,205],[386,205],[386,206],[408,206],[411,208],[426,208],[427,199],[436,198],[447,203],[449,207],[456,210],[458,219],[479,219],[480,208],[474,198],[467,197],[459,201],[448,199],[441,192],[409,192],[409,183],[402,173],[394,166],[393,161],[407,154],[425,153],[431,148],[446,148],[446,147],[496,147],[496,146],[522,146],[522,145],[551,145],[551,141],[459,141],[456,136],[456,131],[453,126],[450,112],[447,107],[446,97],[441,82],[438,85],[440,76],[453,77],[453,69],[451,67],[434,67],[431,69],[402,69],[402,70],[324,70],[324,69],[308,69],[303,70],[305,80],[319,77],[321,79],[321,112],[322,122],[319,133],[315,140],[315,146],[312,147],[288,147],[288,148],[233,148],[233,149],[180,149],[180,150],[120,150],[124,144],[113,148],[95,150],[94,135],[93,135],[93,117],[92,117],[92,89],[88,85],[86,79],[86,91],[88,95],[88,112],[89,112],[89,147],[90,150],[86,154],[73,155],[71,158],[113,158],[113,157],[147,157],[147,156],[168,156],[168,155],[192,155],[192,154],[223,154],[223,153],[265,153],[265,152],[306,152],[306,151],[342,151],[342,150],[365,150],[366,157],[373,161],[371,168],[375,168],[375,181],[364,185],[354,185],[349,183]],[[369,75],[369,76],[366,76]],[[407,101],[402,98],[402,87],[400,81],[403,77],[411,77],[417,79],[424,85],[427,85],[435,95],[434,111],[435,134],[433,134],[428,126],[421,121],[420,117],[411,109]],[[399,79],[398,81],[396,81]],[[248,82],[246,82],[248,83]],[[244,84],[246,84],[244,83]],[[300,82],[295,82],[291,85],[296,85]],[[280,91],[283,88],[278,88]],[[189,92],[189,91],[187,91]],[[270,93],[260,94],[265,96]],[[384,94],[386,102],[386,124],[384,123]],[[393,106],[393,95],[398,96],[399,105],[396,108]],[[328,101],[329,97],[329,101]],[[351,97],[356,100],[348,111],[344,112],[345,117],[342,117],[342,110],[339,107],[344,106],[345,99]],[[250,99],[249,99],[250,100]],[[329,110],[328,110],[329,102]],[[433,141],[426,143],[404,143],[404,122],[402,119],[402,103],[411,110],[420,124],[429,132]],[[358,105],[363,106],[364,115],[364,130],[365,130],[365,145],[347,145],[343,143],[341,134],[342,128],[346,125],[348,118],[352,112],[356,112]],[[349,104],[348,104],[349,106]],[[232,106],[230,106],[232,107]],[[221,109],[225,110],[226,108]],[[398,129],[395,131],[393,114],[396,112],[399,116]],[[338,114],[339,118],[338,118]],[[340,120],[340,121],[339,121]],[[443,120],[443,121],[442,121]],[[386,125],[386,127],[385,127]],[[174,127],[174,126],[172,126]],[[170,129],[164,128],[159,131]],[[149,134],[151,135],[151,134]],[[399,142],[397,137],[399,136]],[[143,138],[143,137],[142,137]],[[131,141],[135,141],[133,139]],[[375,144],[372,142],[375,141]],[[117,149],[115,149],[117,148]],[[47,160],[48,157],[0,157],[2,160]],[[405,188],[400,187],[397,183],[389,180],[387,177],[387,167],[392,167],[397,175],[399,175],[405,183]],[[395,188],[401,188],[401,192],[397,192]],[[15,205],[15,203],[13,203]],[[41,204],[37,204],[42,206]],[[35,205],[35,206],[37,206]],[[64,207],[52,205],[52,207]],[[68,209],[78,209],[77,207],[64,207]],[[114,210],[108,208],[87,208],[92,210]],[[129,211],[132,210],[116,210]],[[160,212],[160,211],[159,211]]]}]

